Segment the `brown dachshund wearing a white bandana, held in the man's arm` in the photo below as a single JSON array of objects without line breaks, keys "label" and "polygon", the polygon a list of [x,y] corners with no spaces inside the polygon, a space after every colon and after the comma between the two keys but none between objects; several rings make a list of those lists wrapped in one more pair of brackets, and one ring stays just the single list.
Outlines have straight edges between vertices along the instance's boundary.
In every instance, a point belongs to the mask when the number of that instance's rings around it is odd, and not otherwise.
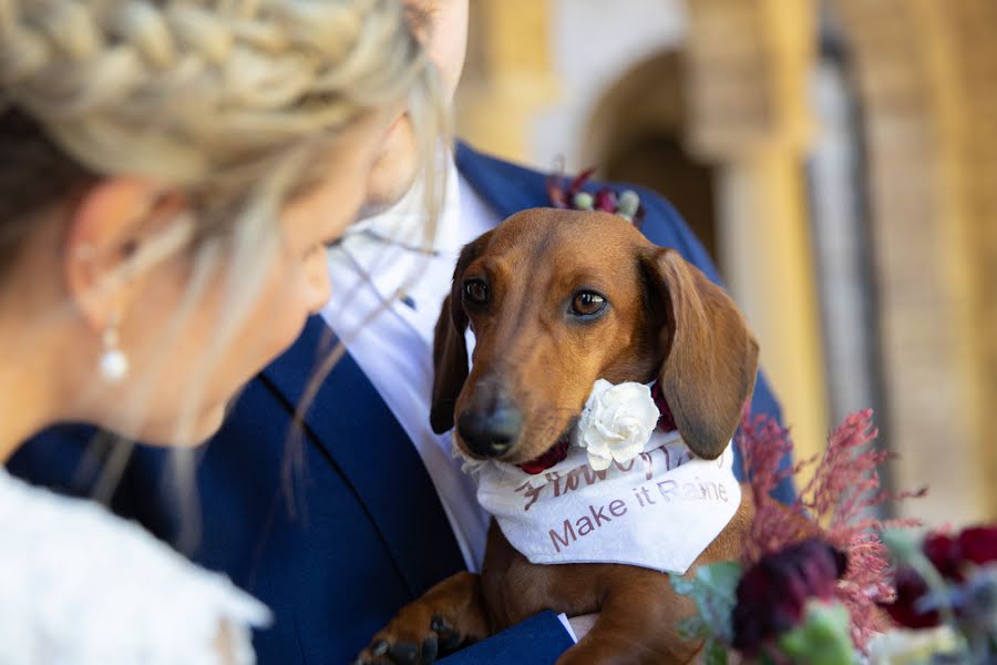
[{"label": "brown dachshund wearing a white bandana, held in the man's arm", "polygon": [[[469,374],[464,331],[475,336]],[[467,245],[436,324],[431,421],[456,424],[471,457],[520,464],[562,440],[598,378],[657,379],[696,456],[717,458],[737,428],[758,345],[727,294],[674,249],[606,213],[531,209]],[[736,559],[750,492],[693,567]],[[558,663],[685,663],[693,611],[667,574],[609,564],[535,565],[493,520],[481,575],[461,573],[404,607],[359,662],[429,663],[438,653],[553,610],[598,613]]]}]

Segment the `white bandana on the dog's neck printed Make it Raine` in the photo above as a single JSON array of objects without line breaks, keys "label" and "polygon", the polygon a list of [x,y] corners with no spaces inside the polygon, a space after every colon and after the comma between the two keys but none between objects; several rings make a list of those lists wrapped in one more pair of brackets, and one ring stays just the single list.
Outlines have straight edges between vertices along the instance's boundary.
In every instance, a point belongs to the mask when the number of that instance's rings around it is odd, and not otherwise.
[{"label": "white bandana on the dog's neck printed Make it Raine", "polygon": [[467,462],[477,501],[536,564],[624,563],[685,574],[741,503],[731,447],[702,460],[675,431],[656,430],[639,456],[605,471],[594,471],[576,444],[536,475]]}]

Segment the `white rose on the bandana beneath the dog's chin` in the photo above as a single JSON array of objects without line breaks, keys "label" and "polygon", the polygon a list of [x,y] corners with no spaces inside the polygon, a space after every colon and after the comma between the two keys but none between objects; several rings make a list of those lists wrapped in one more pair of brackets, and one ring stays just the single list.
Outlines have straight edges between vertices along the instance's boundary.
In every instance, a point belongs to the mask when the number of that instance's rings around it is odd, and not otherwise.
[{"label": "white rose on the bandana beneath the dog's chin", "polygon": [[614,386],[599,379],[578,420],[578,446],[588,451],[596,471],[616,462],[628,462],[644,450],[660,413],[644,383],[627,381]]}]

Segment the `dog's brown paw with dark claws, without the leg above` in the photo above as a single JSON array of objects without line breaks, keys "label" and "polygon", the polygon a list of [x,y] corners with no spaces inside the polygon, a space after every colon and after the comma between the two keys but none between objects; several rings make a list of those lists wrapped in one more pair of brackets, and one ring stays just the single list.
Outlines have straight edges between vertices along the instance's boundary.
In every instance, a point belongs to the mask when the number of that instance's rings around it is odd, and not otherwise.
[{"label": "dog's brown paw with dark claws, without the leg above", "polygon": [[454,626],[455,622],[440,614],[428,616],[422,607],[405,607],[374,635],[353,664],[431,665],[469,642]]}]

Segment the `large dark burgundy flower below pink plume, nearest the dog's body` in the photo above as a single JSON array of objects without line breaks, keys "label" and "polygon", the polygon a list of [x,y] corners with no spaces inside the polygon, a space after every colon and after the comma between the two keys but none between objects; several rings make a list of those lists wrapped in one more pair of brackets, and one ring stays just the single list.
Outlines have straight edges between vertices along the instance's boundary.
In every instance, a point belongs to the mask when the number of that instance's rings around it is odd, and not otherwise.
[{"label": "large dark burgundy flower below pink plume, nearest the dog's body", "polygon": [[734,647],[751,657],[769,640],[796,626],[808,601],[833,600],[846,567],[845,554],[816,538],[763,556],[738,583]]}]

